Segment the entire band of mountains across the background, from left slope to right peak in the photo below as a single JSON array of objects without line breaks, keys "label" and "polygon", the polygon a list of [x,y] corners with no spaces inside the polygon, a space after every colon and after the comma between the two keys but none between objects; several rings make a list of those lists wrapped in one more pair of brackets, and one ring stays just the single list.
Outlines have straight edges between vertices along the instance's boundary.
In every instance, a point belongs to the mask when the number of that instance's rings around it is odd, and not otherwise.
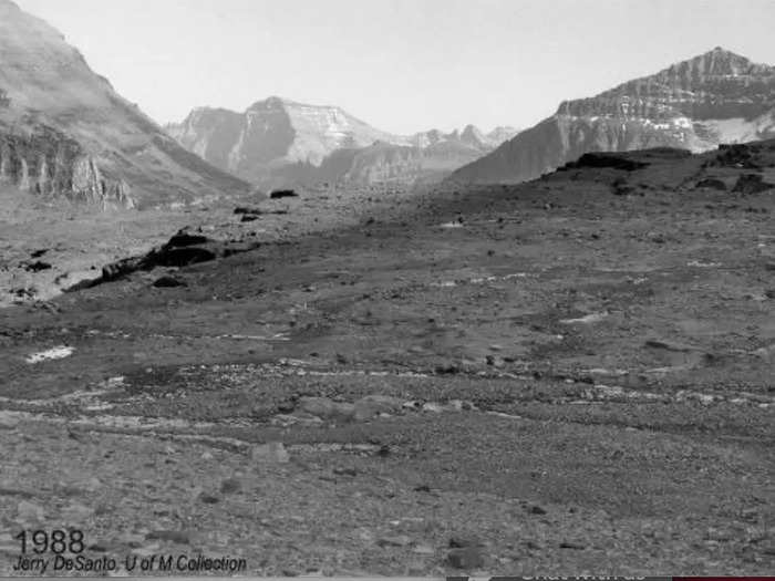
[{"label": "entire band of mountains across the background, from left slope to right peak", "polygon": [[394,135],[335,106],[269,97],[159,127],[52,27],[0,0],[0,184],[104,207],[318,184],[517,183],[585,153],[702,152],[775,137],[775,68],[716,48],[518,132]]}]

